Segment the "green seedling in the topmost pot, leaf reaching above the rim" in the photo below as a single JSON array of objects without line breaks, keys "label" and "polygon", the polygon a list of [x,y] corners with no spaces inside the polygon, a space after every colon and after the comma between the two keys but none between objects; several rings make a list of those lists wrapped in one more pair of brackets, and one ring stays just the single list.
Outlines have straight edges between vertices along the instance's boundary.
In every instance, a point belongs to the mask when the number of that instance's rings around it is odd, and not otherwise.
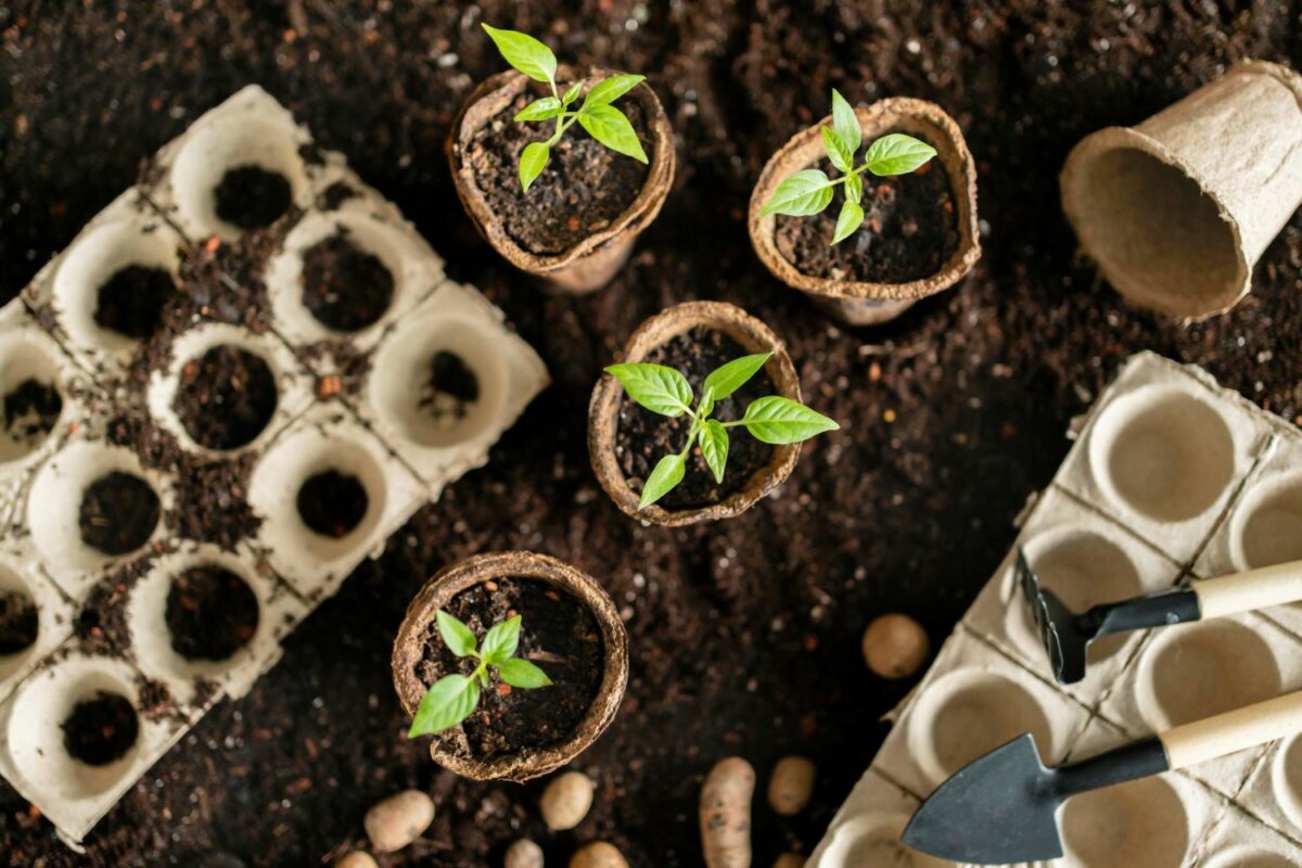
[{"label": "green seedling in the topmost pot, leaf reaching above the rim", "polygon": [[531,142],[519,155],[519,185],[526,193],[534,180],[542,174],[552,155],[552,148],[565,135],[565,130],[575,122],[612,151],[631,156],[642,163],[647,161],[642,142],[633,131],[633,124],[629,122],[624,112],[612,105],[615,100],[637,87],[646,75],[621,73],[604,78],[592,85],[582,104],[572,111],[570,105],[578,100],[583,82],[570,85],[564,94],[556,87],[556,55],[552,53],[551,48],[517,30],[497,30],[488,25],[483,25],[483,29],[508,64],[534,81],[546,82],[552,90],[551,96],[534,100],[516,115],[517,121],[556,120],[556,131],[549,139]]}]

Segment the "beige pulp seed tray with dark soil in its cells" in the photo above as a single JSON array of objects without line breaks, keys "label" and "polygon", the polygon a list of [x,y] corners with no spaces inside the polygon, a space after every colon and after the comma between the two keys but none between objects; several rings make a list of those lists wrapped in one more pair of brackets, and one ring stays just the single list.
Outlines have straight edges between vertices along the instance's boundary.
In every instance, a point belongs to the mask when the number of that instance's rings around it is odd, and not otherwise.
[{"label": "beige pulp seed tray with dark soil in its cells", "polygon": [[546,385],[247,87],[0,310],[0,774],[76,843]]}]

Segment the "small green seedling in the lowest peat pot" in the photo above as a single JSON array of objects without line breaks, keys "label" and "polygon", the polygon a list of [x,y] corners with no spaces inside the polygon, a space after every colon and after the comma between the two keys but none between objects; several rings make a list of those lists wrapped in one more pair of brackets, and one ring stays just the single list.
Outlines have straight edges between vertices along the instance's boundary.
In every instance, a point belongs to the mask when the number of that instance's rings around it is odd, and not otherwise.
[{"label": "small green seedling in the lowest peat pot", "polygon": [[480,688],[488,687],[490,669],[495,670],[505,683],[521,690],[547,687],[552,683],[542,669],[514,656],[516,648],[519,647],[522,623],[518,614],[488,630],[482,647],[477,645],[475,634],[470,627],[447,612],[439,610],[436,618],[439,635],[452,653],[458,657],[474,657],[479,665],[469,675],[444,675],[435,682],[415,711],[408,738],[440,733],[470,717],[470,713],[479,707]]}]

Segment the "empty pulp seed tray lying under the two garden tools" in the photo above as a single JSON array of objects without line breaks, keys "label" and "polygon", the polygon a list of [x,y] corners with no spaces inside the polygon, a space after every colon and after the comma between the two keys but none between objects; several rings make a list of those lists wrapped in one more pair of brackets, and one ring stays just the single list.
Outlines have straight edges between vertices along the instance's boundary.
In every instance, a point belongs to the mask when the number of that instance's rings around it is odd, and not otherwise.
[{"label": "empty pulp seed tray lying under the two garden tools", "polygon": [[[1142,353],[1077,426],[1022,523],[1075,610],[1302,558],[1302,432],[1200,368]],[[921,800],[1030,731],[1046,765],[1302,688],[1302,605],[1100,639],[1057,685],[1014,582],[1016,547],[940,648],[810,868],[953,863],[905,848]],[[1069,799],[1053,865],[1302,864],[1302,737]]]}]

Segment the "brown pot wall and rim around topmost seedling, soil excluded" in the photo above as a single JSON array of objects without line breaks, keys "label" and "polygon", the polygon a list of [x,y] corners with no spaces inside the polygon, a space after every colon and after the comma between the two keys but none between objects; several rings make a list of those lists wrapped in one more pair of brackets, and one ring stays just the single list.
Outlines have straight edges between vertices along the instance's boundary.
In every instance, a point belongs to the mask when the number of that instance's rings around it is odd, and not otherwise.
[{"label": "brown pot wall and rim around topmost seedling, soil excluded", "polygon": [[[607,69],[590,68],[583,74],[583,81],[586,86],[591,86],[613,74]],[[557,81],[575,81],[574,70],[562,66],[557,73]],[[547,280],[560,290],[590,293],[604,286],[620,271],[633,252],[633,242],[638,233],[651,225],[660,213],[660,206],[664,204],[673,183],[673,130],[669,128],[669,117],[664,113],[660,100],[646,82],[630,90],[622,99],[635,100],[650,120],[651,128],[651,143],[647,148],[650,172],[646,185],[633,204],[605,229],[594,232],[562,254],[538,255],[521,247],[506,233],[479,189],[474,168],[462,160],[464,148],[475,133],[491,124],[531,83],[533,79],[525,74],[508,70],[486,79],[470,94],[452,125],[448,147],[452,178],[461,197],[461,204],[479,228],[479,233],[510,264]],[[570,134],[574,133],[579,131],[570,130]]]}]

